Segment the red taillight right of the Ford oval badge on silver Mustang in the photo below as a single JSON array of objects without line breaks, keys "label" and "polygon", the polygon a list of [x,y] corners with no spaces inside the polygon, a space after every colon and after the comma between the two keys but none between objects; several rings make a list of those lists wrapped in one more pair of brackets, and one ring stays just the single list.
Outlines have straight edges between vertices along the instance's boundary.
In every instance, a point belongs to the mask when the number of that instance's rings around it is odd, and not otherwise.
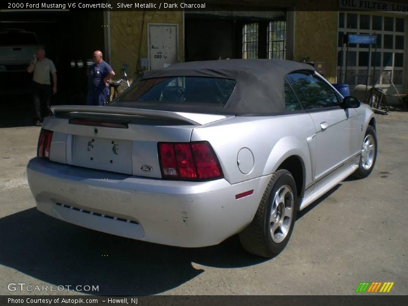
[{"label": "red taillight right of the Ford oval badge on silver Mustang", "polygon": [[222,177],[211,145],[203,142],[159,142],[162,175],[166,179],[214,180]]}]

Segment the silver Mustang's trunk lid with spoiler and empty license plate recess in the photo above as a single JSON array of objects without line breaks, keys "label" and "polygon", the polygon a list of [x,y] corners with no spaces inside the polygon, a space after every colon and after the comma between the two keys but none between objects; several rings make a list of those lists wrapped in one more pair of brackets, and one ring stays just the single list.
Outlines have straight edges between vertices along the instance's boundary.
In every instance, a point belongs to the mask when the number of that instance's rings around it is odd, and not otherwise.
[{"label": "silver Mustang's trunk lid with spoiler and empty license plate recess", "polygon": [[[227,117],[109,106],[54,106],[52,111],[43,127],[65,139],[67,164],[156,178],[162,177],[158,142],[189,142],[195,127]],[[50,160],[60,161],[58,154],[52,147]]]}]

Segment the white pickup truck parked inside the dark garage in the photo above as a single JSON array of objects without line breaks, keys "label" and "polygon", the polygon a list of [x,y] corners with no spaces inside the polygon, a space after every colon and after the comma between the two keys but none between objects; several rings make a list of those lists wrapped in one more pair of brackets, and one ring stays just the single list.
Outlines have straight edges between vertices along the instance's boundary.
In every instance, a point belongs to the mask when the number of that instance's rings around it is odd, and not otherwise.
[{"label": "white pickup truck parked inside the dark garage", "polygon": [[38,47],[39,41],[34,32],[0,30],[0,73],[25,71]]}]

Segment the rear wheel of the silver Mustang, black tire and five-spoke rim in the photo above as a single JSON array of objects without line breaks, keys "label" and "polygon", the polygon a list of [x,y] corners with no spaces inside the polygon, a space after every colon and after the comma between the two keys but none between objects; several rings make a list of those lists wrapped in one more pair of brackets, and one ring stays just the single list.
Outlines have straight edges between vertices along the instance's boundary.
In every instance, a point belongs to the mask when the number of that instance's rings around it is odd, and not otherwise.
[{"label": "rear wheel of the silver Mustang, black tire and five-spoke rim", "polygon": [[[282,195],[285,195],[284,201],[279,205],[274,203],[277,192],[281,195],[280,199],[282,199]],[[289,210],[289,206],[291,206],[291,211]],[[272,208],[275,207],[275,222],[271,222]],[[292,174],[285,169],[276,171],[272,174],[272,178],[262,196],[257,213],[252,222],[239,233],[241,245],[248,252],[261,257],[271,258],[280,253],[288,244],[290,236],[292,235],[297,210],[297,189]],[[291,217],[285,216],[285,213],[291,213]],[[282,226],[273,229],[273,225],[276,226],[279,222]],[[271,226],[274,231],[273,236],[271,234]],[[282,230],[286,231],[286,235]],[[283,233],[281,236],[279,236],[279,231]]]}]

